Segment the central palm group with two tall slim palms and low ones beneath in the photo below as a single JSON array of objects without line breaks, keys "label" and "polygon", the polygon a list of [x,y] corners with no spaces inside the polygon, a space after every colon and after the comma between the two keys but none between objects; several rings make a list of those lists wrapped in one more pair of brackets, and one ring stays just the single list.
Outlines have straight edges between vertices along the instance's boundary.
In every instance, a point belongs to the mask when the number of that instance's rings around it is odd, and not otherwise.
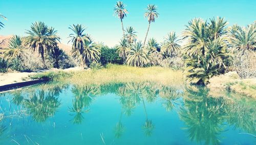
[{"label": "central palm group with two tall slim palms and low ones beneath", "polygon": [[148,5],[146,8],[144,16],[148,20],[148,28],[143,43],[141,41],[137,41],[137,32],[133,27],[129,26],[124,30],[123,19],[128,11],[125,9],[125,5],[121,1],[117,2],[114,11],[116,16],[121,20],[123,32],[123,38],[117,46],[117,53],[122,57],[126,64],[136,67],[144,67],[150,63],[150,56],[152,53],[161,52],[165,58],[173,57],[178,54],[181,46],[179,45],[180,41],[175,32],[168,34],[167,38],[165,38],[162,43],[163,49],[161,50],[160,44],[157,43],[154,38],[148,40],[147,44],[145,44],[151,23],[155,22],[155,19],[159,16],[156,5]]}]

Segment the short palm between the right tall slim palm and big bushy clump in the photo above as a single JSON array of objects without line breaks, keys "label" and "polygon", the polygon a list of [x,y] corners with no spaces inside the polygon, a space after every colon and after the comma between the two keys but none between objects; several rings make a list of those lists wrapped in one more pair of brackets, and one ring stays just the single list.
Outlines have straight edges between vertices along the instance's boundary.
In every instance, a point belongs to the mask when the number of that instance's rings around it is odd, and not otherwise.
[{"label": "short palm between the right tall slim palm and big bushy clump", "polygon": [[181,46],[179,45],[180,39],[176,36],[175,32],[169,33],[168,37],[164,38],[163,45],[161,47],[161,52],[166,57],[176,56]]}]

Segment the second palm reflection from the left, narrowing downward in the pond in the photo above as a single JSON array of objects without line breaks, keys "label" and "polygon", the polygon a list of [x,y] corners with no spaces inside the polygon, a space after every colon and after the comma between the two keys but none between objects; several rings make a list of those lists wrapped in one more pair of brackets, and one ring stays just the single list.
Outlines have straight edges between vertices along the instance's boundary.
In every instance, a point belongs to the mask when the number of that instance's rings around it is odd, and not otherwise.
[{"label": "second palm reflection from the left, narrowing downward in the pond", "polygon": [[83,120],[82,113],[89,111],[89,109],[84,110],[84,108],[90,107],[93,99],[99,94],[99,89],[93,85],[75,86],[72,88],[72,93],[75,95],[75,98],[73,99],[73,107],[70,111],[76,113],[73,123],[81,124]]}]

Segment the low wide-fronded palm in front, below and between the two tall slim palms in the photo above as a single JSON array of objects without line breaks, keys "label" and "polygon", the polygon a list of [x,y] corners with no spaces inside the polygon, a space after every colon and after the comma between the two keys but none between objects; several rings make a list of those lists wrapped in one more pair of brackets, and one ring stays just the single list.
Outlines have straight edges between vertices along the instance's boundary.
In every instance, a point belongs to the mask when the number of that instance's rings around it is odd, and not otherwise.
[{"label": "low wide-fronded palm in front, below and between the two tall slim palms", "polygon": [[128,52],[126,63],[136,67],[143,67],[148,63],[147,53],[143,49],[141,41],[133,44]]}]

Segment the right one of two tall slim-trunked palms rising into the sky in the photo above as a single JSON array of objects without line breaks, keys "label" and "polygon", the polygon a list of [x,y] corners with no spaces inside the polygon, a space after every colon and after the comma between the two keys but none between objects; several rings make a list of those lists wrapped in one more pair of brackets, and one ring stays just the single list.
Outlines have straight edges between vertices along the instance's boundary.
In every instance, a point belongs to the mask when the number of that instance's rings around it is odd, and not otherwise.
[{"label": "right one of two tall slim-trunked palms rising into the sky", "polygon": [[[155,18],[157,18],[159,16],[159,13],[157,12],[157,7],[155,5],[148,5],[146,8],[146,12],[145,12],[145,17],[147,17],[148,20],[148,27],[147,27],[147,31],[146,31],[146,37],[148,34],[148,31],[150,30],[150,24],[151,22],[155,22]],[[143,46],[146,43],[146,37],[143,43]]]}]

